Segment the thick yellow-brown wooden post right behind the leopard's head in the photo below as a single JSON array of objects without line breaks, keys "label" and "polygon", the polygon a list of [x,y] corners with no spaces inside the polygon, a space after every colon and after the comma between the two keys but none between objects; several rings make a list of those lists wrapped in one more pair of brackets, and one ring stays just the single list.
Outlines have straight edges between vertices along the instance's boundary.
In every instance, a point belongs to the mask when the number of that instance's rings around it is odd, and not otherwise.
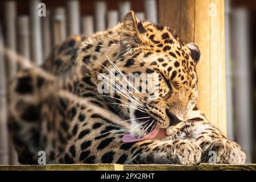
[{"label": "thick yellow-brown wooden post right behind the leopard's head", "polygon": [[226,135],[225,11],[222,0],[159,0],[160,23],[201,49],[197,105]]}]

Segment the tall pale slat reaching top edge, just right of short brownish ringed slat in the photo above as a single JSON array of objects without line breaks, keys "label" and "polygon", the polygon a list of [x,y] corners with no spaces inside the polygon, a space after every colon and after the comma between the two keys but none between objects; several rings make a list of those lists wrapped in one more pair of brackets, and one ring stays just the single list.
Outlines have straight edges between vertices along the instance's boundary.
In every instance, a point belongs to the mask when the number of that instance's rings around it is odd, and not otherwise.
[{"label": "tall pale slat reaching top edge, just right of short brownish ringed slat", "polygon": [[80,6],[79,1],[67,1],[68,36],[80,34]]}]

